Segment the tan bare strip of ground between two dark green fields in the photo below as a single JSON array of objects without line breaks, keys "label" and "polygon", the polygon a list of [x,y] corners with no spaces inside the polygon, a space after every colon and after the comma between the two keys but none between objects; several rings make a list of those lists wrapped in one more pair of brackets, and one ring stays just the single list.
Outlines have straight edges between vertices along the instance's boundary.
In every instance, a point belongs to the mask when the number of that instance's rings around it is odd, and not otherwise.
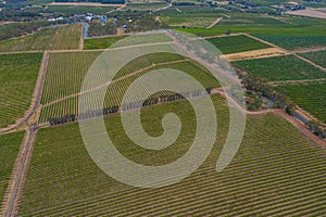
[{"label": "tan bare strip of ground between two dark green fields", "polygon": [[266,48],[266,49],[259,49],[259,50],[246,51],[239,53],[230,53],[224,55],[224,58],[228,61],[242,61],[242,60],[272,58],[272,56],[287,55],[287,54],[289,53],[278,48]]}]

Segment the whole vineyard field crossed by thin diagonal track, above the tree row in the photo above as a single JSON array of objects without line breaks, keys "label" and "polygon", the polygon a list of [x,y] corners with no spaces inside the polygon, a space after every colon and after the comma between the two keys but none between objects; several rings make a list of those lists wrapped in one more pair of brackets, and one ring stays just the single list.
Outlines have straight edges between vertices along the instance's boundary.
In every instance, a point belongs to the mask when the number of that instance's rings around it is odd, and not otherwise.
[{"label": "whole vineyard field crossed by thin diagonal track, above the tree row", "polygon": [[[88,61],[91,60],[91,53],[74,53],[76,56],[80,58],[82,55]],[[73,54],[73,55],[74,55]],[[57,58],[61,54],[57,54]],[[73,56],[70,55],[70,56]],[[96,58],[97,53],[93,53],[92,58]],[[77,58],[77,59],[78,59]],[[85,61],[85,65],[76,65],[73,64],[74,61],[67,60],[64,54],[60,56],[60,60],[66,60],[66,65],[70,66],[70,71],[72,74],[68,76],[64,73],[66,71],[62,71],[62,68],[58,68],[55,62],[53,62],[53,68],[48,71],[48,77],[46,79],[46,87],[42,95],[42,104],[50,103],[54,100],[64,98],[66,95],[79,92],[82,87],[82,81],[84,76],[87,73],[89,66],[87,66],[87,61]],[[51,59],[50,59],[51,60]],[[60,61],[63,64],[63,61]],[[156,64],[152,66],[152,64]],[[50,65],[49,65],[50,66]],[[131,61],[126,66],[124,66],[115,76],[114,79],[120,79],[116,82],[112,82],[108,90],[104,99],[104,107],[120,105],[123,99],[123,95],[127,88],[130,86],[133,81],[135,81],[138,77],[146,74],[148,71],[159,69],[159,68],[174,68],[179,69],[181,72],[186,72],[191,75],[195,79],[202,82],[204,87],[220,87],[218,82],[206,72],[204,72],[197,63],[189,62],[184,60],[181,56],[170,53],[155,53],[154,55],[147,55],[136,59]],[[136,74],[133,74],[136,73]],[[133,75],[129,75],[133,74]],[[113,80],[114,80],[113,79]],[[103,81],[104,84],[105,81]],[[61,88],[58,88],[61,87]],[[106,87],[103,87],[106,88]],[[89,94],[97,94],[97,90],[92,91]],[[70,99],[64,99],[60,102],[55,102],[53,104],[49,104],[42,107],[40,115],[40,123],[45,123],[49,117],[60,117],[67,114],[77,114],[78,113],[78,95],[72,95]]]}]

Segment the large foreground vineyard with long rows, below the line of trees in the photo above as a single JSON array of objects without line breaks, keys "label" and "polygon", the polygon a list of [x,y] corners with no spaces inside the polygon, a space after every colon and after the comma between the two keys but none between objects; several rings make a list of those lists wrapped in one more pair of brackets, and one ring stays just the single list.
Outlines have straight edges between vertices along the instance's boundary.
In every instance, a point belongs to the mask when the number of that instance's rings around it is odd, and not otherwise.
[{"label": "large foreground vineyard with long rows, below the line of trees", "polygon": [[[198,99],[200,100],[200,99]],[[215,146],[190,177],[160,189],[125,186],[106,176],[90,159],[77,124],[40,129],[27,173],[18,214],[22,216],[100,215],[325,215],[325,149],[308,141],[274,114],[249,116],[242,144],[223,171],[215,166],[228,130],[228,108],[213,95],[218,119]],[[162,165],[181,156],[192,143],[196,118],[188,102],[142,110],[145,130],[163,132],[161,118],[176,113],[183,128],[178,139],[161,151],[134,144],[120,115],[105,118],[116,149],[143,165]],[[123,171],[122,171],[123,173]]]}]

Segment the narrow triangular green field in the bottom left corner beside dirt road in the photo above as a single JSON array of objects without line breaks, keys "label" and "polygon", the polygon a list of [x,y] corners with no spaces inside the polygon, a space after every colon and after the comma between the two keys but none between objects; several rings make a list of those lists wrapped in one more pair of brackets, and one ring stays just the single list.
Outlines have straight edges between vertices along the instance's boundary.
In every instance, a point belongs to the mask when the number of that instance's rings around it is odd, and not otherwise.
[{"label": "narrow triangular green field in the bottom left corner beside dirt road", "polygon": [[0,135],[0,206],[17,157],[24,131]]}]

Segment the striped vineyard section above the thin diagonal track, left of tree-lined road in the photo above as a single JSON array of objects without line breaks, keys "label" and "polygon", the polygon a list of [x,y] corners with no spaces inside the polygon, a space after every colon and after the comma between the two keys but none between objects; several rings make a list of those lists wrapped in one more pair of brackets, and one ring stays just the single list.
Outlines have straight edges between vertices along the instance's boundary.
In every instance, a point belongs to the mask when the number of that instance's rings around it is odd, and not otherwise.
[{"label": "striped vineyard section above the thin diagonal track, left of tree-lined road", "polygon": [[[79,92],[88,68],[100,54],[101,52],[51,53],[41,103],[49,103],[53,100]],[[151,66],[152,63],[176,60],[180,60],[180,58],[170,54],[140,58],[137,62],[131,62],[123,67],[116,75],[116,78]]]}]

